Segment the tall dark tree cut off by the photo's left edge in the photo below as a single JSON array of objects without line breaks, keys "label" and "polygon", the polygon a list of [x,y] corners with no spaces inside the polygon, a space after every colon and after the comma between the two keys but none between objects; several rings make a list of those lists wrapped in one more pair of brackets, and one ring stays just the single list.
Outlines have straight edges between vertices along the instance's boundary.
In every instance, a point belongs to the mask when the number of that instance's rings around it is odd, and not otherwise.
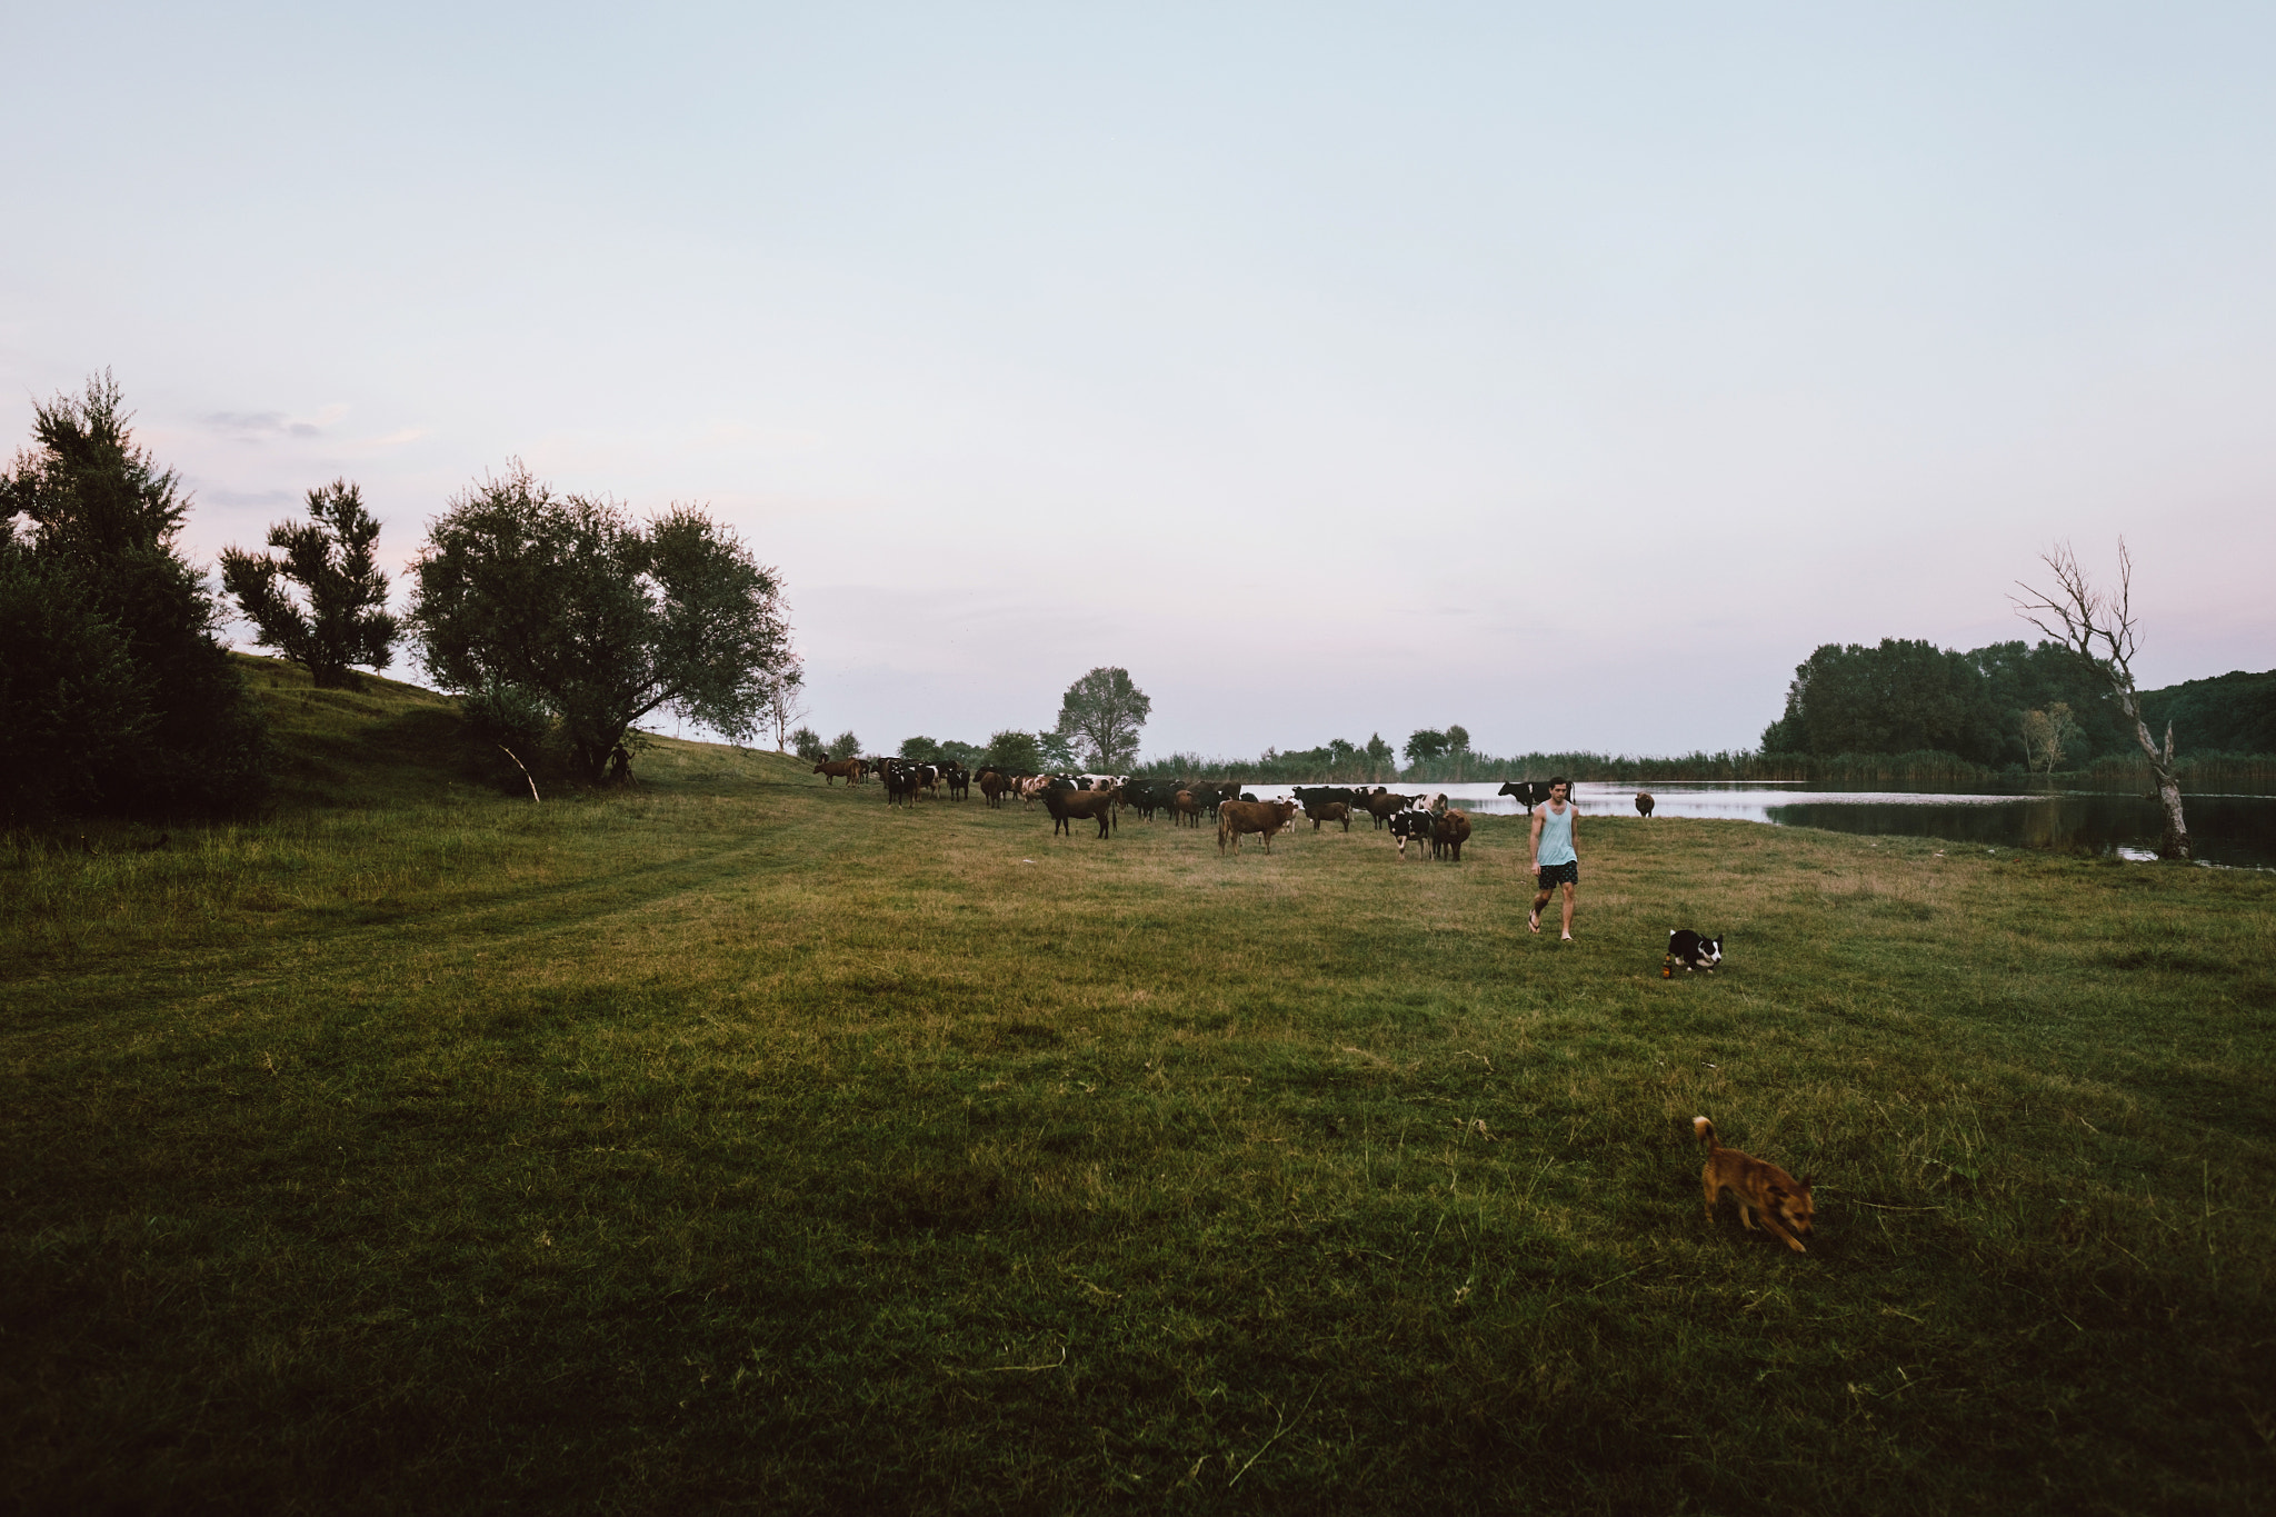
[{"label": "tall dark tree cut off by the photo's left edge", "polygon": [[134,446],[107,373],[32,416],[34,446],[0,473],[9,810],[214,812],[257,801],[271,753],[214,639],[205,575],[175,550],[189,514],[180,478]]}]

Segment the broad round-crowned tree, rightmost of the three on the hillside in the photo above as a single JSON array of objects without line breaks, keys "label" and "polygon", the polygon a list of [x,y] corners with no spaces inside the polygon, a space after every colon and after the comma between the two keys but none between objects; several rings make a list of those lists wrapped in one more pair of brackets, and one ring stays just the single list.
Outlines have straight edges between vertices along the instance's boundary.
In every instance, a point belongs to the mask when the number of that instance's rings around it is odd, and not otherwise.
[{"label": "broad round-crowned tree, rightmost of the three on the hillside", "polygon": [[781,580],[733,532],[678,505],[642,525],[521,464],[451,500],[417,573],[428,673],[533,691],[589,782],[651,712],[749,737],[790,655]]}]

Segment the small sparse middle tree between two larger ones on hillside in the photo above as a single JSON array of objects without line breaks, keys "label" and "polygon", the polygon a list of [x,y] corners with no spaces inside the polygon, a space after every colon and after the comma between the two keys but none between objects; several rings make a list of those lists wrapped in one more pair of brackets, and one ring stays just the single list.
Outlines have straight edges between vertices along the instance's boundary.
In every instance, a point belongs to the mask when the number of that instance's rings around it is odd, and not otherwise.
[{"label": "small sparse middle tree between two larger ones on hillside", "polygon": [[[221,582],[237,596],[259,644],[307,669],[319,689],[355,689],[351,664],[385,669],[396,644],[387,575],[371,559],[380,523],[346,480],[307,491],[307,521],[269,528],[284,557],[221,550]],[[280,580],[298,585],[307,610]]]}]

